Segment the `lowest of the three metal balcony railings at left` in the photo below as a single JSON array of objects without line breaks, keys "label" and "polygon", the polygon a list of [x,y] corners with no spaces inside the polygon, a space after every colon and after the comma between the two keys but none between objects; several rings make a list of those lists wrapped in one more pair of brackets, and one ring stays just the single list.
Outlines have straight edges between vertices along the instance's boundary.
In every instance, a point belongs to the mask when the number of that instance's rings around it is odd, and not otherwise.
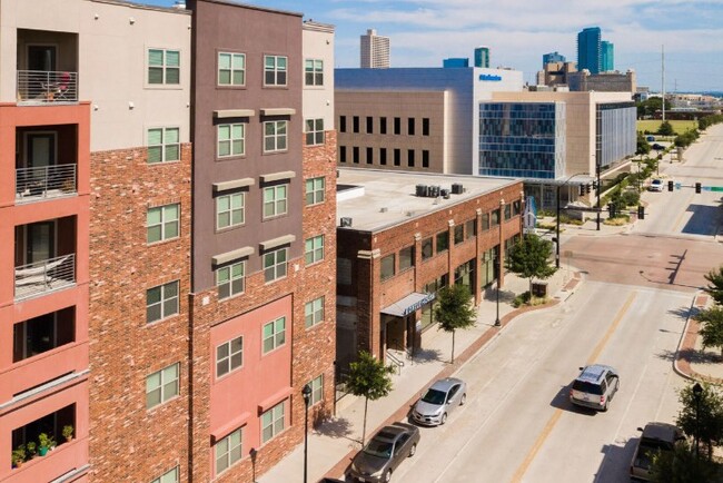
[{"label": "lowest of the three metal balcony railings at left", "polygon": [[33,297],[76,284],[76,254],[16,267],[16,299]]}]

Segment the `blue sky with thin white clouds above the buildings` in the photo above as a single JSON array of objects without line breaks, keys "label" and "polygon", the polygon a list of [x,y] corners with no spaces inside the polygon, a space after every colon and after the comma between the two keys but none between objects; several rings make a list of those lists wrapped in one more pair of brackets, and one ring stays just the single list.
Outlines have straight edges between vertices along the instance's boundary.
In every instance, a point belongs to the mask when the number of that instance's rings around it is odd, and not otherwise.
[{"label": "blue sky with thin white clouds above the buildings", "polygon": [[[171,6],[174,0],[133,0]],[[615,69],[666,92],[723,91],[723,0],[251,0],[336,27],[336,67],[359,67],[359,36],[390,38],[392,67],[442,67],[491,48],[491,67],[534,83],[543,53],[577,60],[577,32],[600,27],[615,45]]]}]

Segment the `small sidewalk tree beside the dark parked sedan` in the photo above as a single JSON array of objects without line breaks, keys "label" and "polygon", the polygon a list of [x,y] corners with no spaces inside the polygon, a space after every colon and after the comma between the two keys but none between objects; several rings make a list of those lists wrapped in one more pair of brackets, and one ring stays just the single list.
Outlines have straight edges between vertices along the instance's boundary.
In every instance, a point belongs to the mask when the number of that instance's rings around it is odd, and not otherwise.
[{"label": "small sidewalk tree beside the dark parked sedan", "polygon": [[392,392],[392,373],[394,367],[385,366],[366,351],[359,352],[359,359],[349,364],[349,377],[346,386],[349,393],[364,397],[364,427],[361,428],[361,446],[367,431],[367,405],[369,400],[376,401]]}]

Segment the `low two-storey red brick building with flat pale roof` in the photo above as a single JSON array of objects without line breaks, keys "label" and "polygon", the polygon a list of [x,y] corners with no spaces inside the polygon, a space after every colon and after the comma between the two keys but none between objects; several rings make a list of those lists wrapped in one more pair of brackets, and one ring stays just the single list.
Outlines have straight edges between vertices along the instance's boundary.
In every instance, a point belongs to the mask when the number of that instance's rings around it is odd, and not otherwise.
[{"label": "low two-storey red brick building with flat pale roof", "polygon": [[464,284],[478,304],[519,237],[518,180],[341,168],[337,183],[340,367],[419,348],[434,294]]}]

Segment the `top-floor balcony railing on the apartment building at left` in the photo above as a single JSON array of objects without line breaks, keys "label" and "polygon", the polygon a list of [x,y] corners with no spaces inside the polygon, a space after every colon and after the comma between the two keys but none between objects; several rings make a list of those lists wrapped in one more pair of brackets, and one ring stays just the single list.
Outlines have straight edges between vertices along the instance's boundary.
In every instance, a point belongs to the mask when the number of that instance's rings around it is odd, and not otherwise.
[{"label": "top-floor balcony railing on the apartment building at left", "polygon": [[18,102],[76,102],[78,72],[18,70]]}]

